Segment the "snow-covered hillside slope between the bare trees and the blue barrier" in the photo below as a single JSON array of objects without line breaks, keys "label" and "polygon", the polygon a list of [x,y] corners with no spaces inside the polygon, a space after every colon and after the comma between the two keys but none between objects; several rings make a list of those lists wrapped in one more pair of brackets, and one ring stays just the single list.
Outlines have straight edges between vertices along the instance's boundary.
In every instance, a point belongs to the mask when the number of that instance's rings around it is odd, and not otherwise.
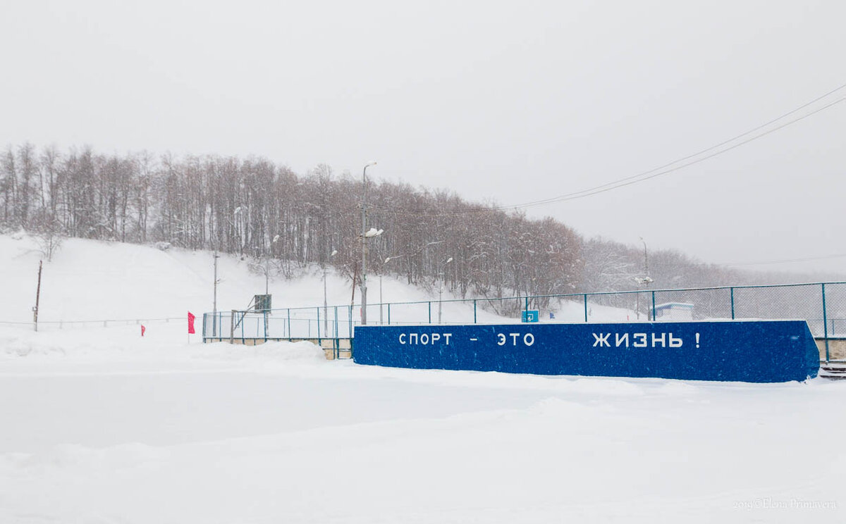
[{"label": "snow-covered hillside slope between the bare trees and the blue barrier", "polygon": [[[25,233],[0,235],[0,323],[28,324],[36,301],[38,263],[44,259],[36,238]],[[52,260],[44,260],[39,304],[40,329],[68,328],[74,325],[96,325],[104,321],[122,320],[146,323],[162,319],[184,319],[188,311],[197,315],[212,310],[214,280],[213,254],[207,251],[188,251],[180,248],[162,250],[153,246],[131,243],[109,243],[77,238],[65,239]],[[249,259],[221,254],[218,259],[217,310],[247,308],[253,295],[265,292],[263,269],[250,267]],[[273,308],[318,307],[323,304],[323,276],[319,267],[311,265],[302,276],[286,279],[271,269],[267,284],[272,294]],[[393,322],[426,323],[437,319],[437,294],[411,287],[393,276],[371,275],[369,308],[371,323],[379,318],[374,304],[409,303],[391,309]],[[327,272],[327,302],[330,306],[349,306],[352,282],[331,268]],[[355,303],[360,303],[360,291],[355,290]],[[454,299],[449,292],[443,300]],[[383,310],[387,322],[387,307]],[[584,304],[562,301],[552,303],[541,312],[541,321],[584,320]],[[346,316],[346,309],[343,315]],[[354,318],[360,314],[358,305]],[[591,320],[619,321],[634,319],[626,309],[592,305]],[[316,316],[316,315],[315,315]],[[486,311],[483,305],[474,312],[473,304],[443,303],[444,323],[519,322],[516,318],[501,317]],[[80,324],[85,321],[85,324]],[[114,323],[113,323],[114,324]],[[199,326],[198,326],[199,329]]]}]

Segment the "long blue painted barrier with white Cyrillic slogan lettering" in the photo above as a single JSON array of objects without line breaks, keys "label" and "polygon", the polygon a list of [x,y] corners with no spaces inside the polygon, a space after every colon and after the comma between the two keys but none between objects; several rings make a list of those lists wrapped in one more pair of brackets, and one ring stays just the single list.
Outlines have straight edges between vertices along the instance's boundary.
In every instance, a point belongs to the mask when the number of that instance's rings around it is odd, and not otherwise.
[{"label": "long blue painted barrier with white Cyrillic slogan lettering", "polygon": [[360,364],[527,374],[787,382],[820,365],[804,320],[367,325],[354,347]]}]

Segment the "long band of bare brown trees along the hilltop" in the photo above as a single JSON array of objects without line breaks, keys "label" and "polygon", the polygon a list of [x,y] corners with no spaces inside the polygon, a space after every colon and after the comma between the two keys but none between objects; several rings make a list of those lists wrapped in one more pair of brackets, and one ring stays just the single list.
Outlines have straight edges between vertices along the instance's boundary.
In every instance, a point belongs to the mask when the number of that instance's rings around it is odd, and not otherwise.
[{"label": "long band of bare brown trees along the hilltop", "polygon": [[[98,154],[9,146],[0,162],[0,226],[119,242],[167,242],[274,260],[291,276],[309,264],[360,270],[360,177],[326,165],[303,176],[261,158]],[[476,205],[448,191],[368,184],[371,274],[446,282],[461,297],[628,290],[643,253],[585,240],[551,218]],[[332,255],[335,252],[336,254]],[[651,254],[655,286],[730,283],[733,271],[682,254]],[[536,300],[536,307],[546,305]]]}]

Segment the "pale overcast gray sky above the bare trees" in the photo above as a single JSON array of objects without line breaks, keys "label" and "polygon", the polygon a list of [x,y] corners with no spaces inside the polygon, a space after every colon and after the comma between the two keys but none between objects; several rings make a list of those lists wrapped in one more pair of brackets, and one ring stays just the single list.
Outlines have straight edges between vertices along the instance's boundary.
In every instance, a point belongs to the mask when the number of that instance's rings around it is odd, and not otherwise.
[{"label": "pale overcast gray sky above the bare trees", "polygon": [[[355,176],[376,160],[375,178],[501,205],[645,172],[846,84],[841,0],[2,1],[0,145]],[[844,128],[846,102],[526,212],[706,262],[846,270]]]}]

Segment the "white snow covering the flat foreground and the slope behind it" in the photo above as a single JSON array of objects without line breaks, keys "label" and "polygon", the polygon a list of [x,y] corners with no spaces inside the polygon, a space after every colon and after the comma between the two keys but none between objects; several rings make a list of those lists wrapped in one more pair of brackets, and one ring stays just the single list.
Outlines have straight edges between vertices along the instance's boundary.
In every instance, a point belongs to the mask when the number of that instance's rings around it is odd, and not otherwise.
[{"label": "white snow covering the flat foreground and the slope behind it", "polygon": [[[29,242],[0,236],[0,320],[29,319]],[[263,291],[221,262],[220,307]],[[0,522],[846,521],[846,381],[420,371],[305,342],[203,345],[184,314],[208,309],[210,271],[208,254],[84,241],[46,265],[41,319],[180,320],[143,338],[131,322],[0,325]],[[349,302],[337,278],[330,303]],[[322,303],[319,276],[271,290]]]}]

